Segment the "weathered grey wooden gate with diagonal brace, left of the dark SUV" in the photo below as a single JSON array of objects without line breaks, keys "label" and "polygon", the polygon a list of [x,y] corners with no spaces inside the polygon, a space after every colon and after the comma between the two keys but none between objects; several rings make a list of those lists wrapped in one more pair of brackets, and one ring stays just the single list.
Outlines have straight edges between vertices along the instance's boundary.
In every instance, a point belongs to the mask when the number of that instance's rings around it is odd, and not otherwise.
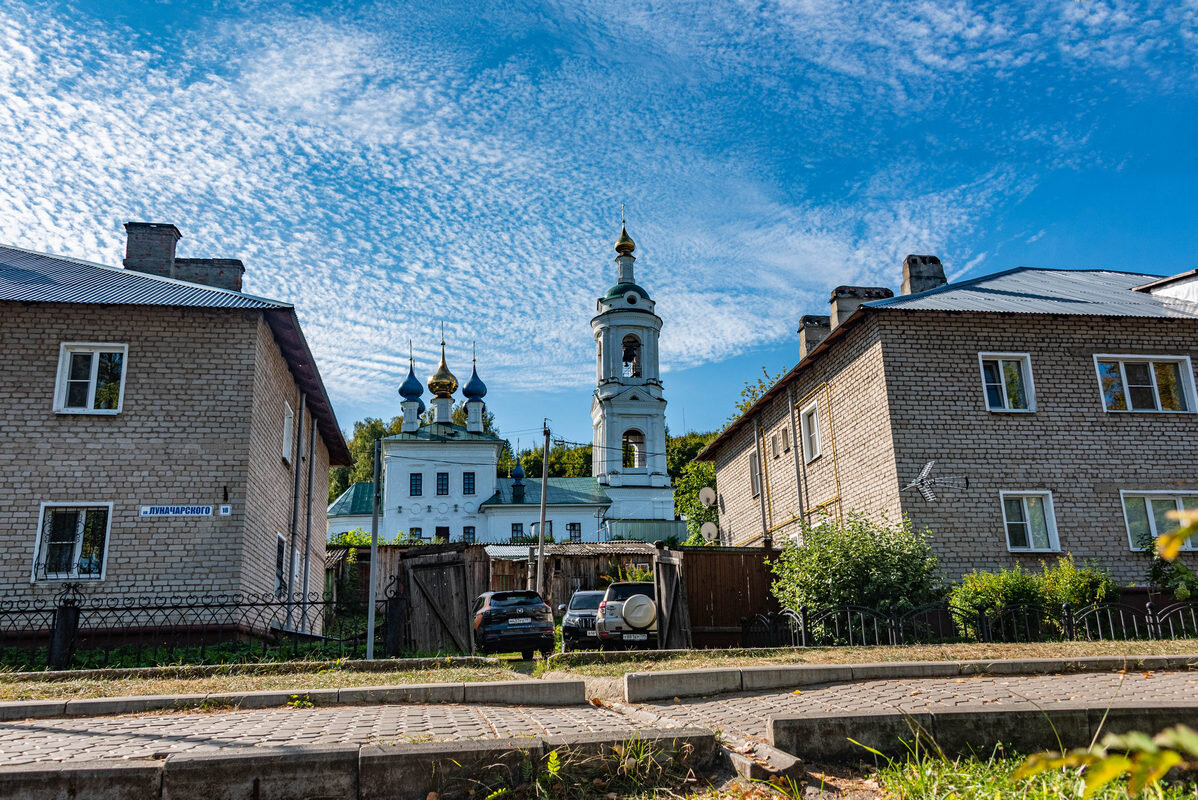
[{"label": "weathered grey wooden gate with diagonal brace, left of the dark SUV", "polygon": [[419,653],[471,653],[470,576],[461,551],[404,558],[407,637]]}]

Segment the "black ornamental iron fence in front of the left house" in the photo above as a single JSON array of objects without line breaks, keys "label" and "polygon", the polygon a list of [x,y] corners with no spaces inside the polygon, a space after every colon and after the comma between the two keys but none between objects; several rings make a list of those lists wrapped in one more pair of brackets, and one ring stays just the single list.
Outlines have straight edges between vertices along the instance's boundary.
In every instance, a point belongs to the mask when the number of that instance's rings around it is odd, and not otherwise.
[{"label": "black ornamental iron fence in front of the left house", "polygon": [[[375,651],[404,648],[394,580],[377,601]],[[0,668],[101,668],[325,660],[365,650],[367,604],[308,595],[85,596],[0,600]]]}]

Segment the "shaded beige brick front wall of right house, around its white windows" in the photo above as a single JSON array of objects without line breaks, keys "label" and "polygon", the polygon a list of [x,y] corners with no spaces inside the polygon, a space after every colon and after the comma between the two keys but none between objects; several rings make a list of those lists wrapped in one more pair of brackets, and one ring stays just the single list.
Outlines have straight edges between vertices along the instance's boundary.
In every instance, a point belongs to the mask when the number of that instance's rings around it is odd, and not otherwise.
[{"label": "shaded beige brick front wall of right house, around its white windows", "polygon": [[[1109,566],[1123,583],[1145,582],[1146,558],[1127,544],[1123,490],[1198,493],[1198,414],[1107,413],[1095,353],[1198,359],[1198,320],[889,313],[881,316],[898,478],[927,461],[961,474],[930,503],[902,492],[902,509],[927,526],[944,571],[1022,563],[1051,554],[1006,547],[999,491],[1052,491],[1061,552]],[[979,352],[1031,357],[1036,412],[994,413],[982,396]],[[1184,556],[1192,566],[1198,559]]]}]

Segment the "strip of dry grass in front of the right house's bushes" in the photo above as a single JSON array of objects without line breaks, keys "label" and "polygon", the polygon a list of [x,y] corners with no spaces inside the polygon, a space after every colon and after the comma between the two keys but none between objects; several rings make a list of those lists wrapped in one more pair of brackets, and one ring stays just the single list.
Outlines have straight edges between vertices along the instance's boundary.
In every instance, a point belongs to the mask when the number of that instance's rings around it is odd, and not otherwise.
[{"label": "strip of dry grass in front of the right house's bushes", "polygon": [[628,672],[658,669],[709,669],[769,663],[872,663],[876,661],[964,661],[976,659],[1057,659],[1087,655],[1187,655],[1198,654],[1198,640],[1136,642],[1039,642],[1031,644],[913,644],[909,647],[837,647],[742,653],[695,650],[665,659],[645,653],[610,654],[601,663],[551,662],[557,677],[610,678]]}]

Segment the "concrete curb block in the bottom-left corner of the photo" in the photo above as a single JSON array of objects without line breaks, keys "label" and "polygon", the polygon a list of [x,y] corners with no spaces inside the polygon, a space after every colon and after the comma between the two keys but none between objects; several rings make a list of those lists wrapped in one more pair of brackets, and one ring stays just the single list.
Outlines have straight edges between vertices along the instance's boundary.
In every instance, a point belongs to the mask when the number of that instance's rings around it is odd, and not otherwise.
[{"label": "concrete curb block in the bottom-left corner of the photo", "polygon": [[71,762],[0,770],[0,798],[20,800],[158,800],[162,762]]}]

